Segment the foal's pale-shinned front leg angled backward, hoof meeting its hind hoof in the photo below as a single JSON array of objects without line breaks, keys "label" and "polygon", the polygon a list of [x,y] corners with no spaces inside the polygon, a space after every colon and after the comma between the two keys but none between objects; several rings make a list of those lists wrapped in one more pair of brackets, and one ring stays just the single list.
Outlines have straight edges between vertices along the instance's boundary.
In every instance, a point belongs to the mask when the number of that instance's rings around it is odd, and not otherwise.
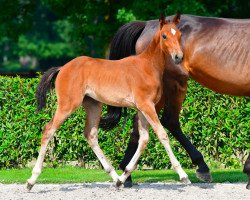
[{"label": "foal's pale-shinned front leg angled backward, hoof meeting its hind hoof", "polygon": [[139,136],[137,150],[135,151],[128,165],[125,167],[123,174],[119,177],[120,182],[117,183],[117,186],[120,186],[122,183],[124,183],[126,179],[130,177],[132,171],[136,168],[138,160],[142,152],[145,150],[149,140],[148,128],[149,128],[148,121],[141,112],[138,112],[138,130],[140,136]]}]

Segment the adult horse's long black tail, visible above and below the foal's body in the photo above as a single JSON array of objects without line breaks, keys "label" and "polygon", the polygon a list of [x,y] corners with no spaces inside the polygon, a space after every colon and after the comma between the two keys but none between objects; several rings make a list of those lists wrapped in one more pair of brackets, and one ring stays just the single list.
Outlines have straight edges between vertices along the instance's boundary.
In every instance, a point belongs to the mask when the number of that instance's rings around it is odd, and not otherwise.
[{"label": "adult horse's long black tail, visible above and below the foal's body", "polygon": [[[135,44],[145,25],[146,22],[135,21],[120,27],[111,41],[109,59],[118,60],[135,55]],[[114,128],[119,123],[121,115],[122,108],[108,106],[108,113],[101,118],[100,127],[105,130]]]}]

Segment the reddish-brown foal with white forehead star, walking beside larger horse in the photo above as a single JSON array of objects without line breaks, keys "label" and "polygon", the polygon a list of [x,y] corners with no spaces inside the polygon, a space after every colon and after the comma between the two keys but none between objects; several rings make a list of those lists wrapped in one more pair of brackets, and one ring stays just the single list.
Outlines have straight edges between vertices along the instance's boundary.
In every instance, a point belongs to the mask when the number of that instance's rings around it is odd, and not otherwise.
[{"label": "reddish-brown foal with white forehead star, walking beside larger horse", "polygon": [[[41,173],[46,148],[54,132],[81,105],[86,110],[84,130],[86,139],[116,186],[124,183],[136,168],[138,159],[149,140],[149,124],[164,145],[180,180],[185,183],[190,182],[172,152],[168,136],[155,111],[155,104],[162,95],[162,76],[166,59],[171,57],[178,64],[183,58],[180,47],[181,33],[176,27],[180,15],[176,14],[171,23],[166,22],[162,15],[159,21],[160,29],[149,47],[140,55],[116,61],[77,57],[63,67],[51,68],[43,75],[37,90],[38,110],[45,107],[46,92],[51,88],[51,80],[56,75],[58,107],[43,131],[39,156],[32,176],[27,181],[28,190],[31,190]],[[132,107],[139,111],[139,145],[121,176],[118,176],[98,145],[97,132],[102,110],[100,102],[112,106]]]}]

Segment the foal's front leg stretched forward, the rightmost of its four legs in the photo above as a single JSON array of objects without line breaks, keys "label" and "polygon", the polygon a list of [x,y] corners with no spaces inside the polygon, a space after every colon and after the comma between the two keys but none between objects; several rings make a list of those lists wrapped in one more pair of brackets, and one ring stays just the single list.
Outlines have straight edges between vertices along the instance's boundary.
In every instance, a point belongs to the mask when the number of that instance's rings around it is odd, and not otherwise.
[{"label": "foal's front leg stretched forward, the rightmost of its four legs", "polygon": [[169,143],[168,135],[158,119],[154,104],[153,103],[144,103],[139,108],[142,111],[145,118],[147,119],[147,121],[149,122],[149,124],[152,126],[152,128],[155,131],[160,142],[165,147],[166,152],[169,156],[170,162],[172,164],[172,167],[179,174],[181,182],[190,183],[190,181],[188,179],[188,175],[182,169],[179,161],[176,159],[176,157],[172,151],[172,148],[171,148],[170,143]]}]

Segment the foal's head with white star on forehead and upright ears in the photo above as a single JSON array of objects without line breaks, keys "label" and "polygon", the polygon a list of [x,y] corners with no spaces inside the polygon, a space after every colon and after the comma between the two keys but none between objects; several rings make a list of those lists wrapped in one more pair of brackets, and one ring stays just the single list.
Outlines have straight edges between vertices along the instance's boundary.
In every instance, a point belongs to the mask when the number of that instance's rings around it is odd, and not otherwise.
[{"label": "foal's head with white star on forehead and upright ears", "polygon": [[181,50],[181,32],[176,27],[180,22],[180,13],[177,13],[172,22],[166,21],[164,15],[161,14],[160,22],[160,45],[164,53],[171,55],[175,64],[179,64],[183,60],[183,52]]}]

